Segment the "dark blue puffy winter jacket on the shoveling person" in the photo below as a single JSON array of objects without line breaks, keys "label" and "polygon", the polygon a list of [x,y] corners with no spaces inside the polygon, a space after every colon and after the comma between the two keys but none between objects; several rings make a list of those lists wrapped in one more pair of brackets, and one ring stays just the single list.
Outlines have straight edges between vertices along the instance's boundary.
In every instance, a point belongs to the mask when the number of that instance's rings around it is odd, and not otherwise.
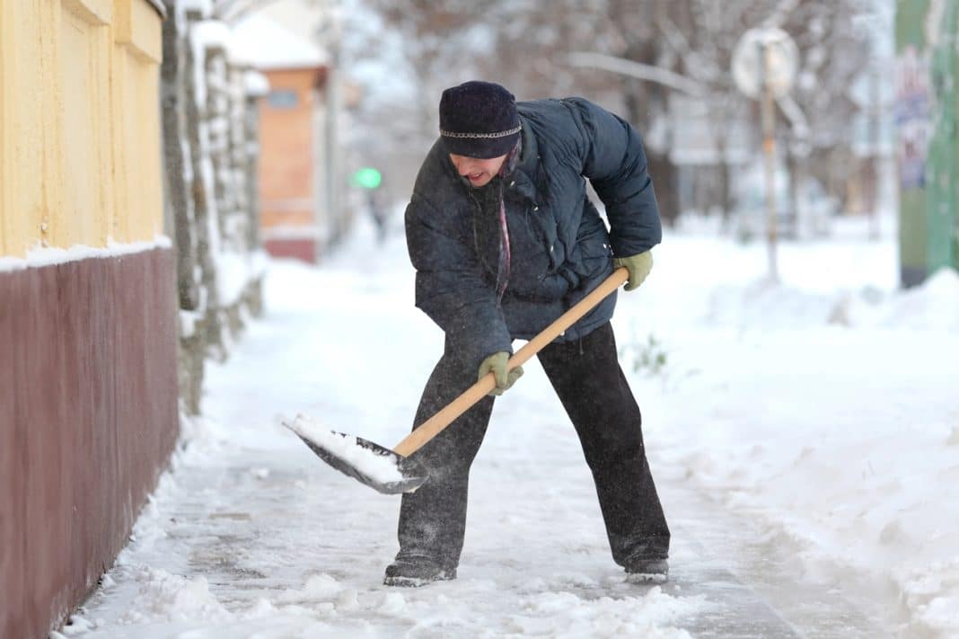
[{"label": "dark blue puffy winter jacket on the shoveling person", "polygon": [[[519,163],[504,183],[512,266],[502,304],[496,272],[479,258],[479,203],[437,140],[406,211],[416,306],[446,333],[464,362],[479,366],[512,340],[527,340],[613,271],[613,255],[635,255],[662,239],[639,133],[582,98],[517,104]],[[586,179],[610,229],[586,196]],[[489,213],[487,213],[489,215]],[[490,226],[490,225],[487,225]],[[495,225],[493,225],[495,227]],[[576,340],[613,316],[607,297],[559,338]]]}]

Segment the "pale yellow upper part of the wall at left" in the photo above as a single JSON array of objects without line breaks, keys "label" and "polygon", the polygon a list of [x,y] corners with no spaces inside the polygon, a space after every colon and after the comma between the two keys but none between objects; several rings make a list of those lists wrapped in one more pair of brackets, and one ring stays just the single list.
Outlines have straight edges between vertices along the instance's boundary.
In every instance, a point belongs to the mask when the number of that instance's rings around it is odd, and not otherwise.
[{"label": "pale yellow upper part of the wall at left", "polygon": [[0,256],[162,232],[161,51],[147,0],[0,0]]}]

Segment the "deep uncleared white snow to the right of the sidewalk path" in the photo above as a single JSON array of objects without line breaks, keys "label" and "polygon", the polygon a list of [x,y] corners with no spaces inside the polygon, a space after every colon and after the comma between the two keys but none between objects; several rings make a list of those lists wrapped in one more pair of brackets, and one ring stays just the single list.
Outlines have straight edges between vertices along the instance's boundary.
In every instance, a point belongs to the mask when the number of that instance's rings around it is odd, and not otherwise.
[{"label": "deep uncleared white snow to the right of the sidewalk path", "polygon": [[663,424],[662,460],[753,513],[805,578],[867,593],[910,636],[953,636],[959,275],[898,290],[891,249],[785,245],[773,285],[761,247],[667,237],[646,300],[617,320],[625,363],[660,382],[644,416]]}]

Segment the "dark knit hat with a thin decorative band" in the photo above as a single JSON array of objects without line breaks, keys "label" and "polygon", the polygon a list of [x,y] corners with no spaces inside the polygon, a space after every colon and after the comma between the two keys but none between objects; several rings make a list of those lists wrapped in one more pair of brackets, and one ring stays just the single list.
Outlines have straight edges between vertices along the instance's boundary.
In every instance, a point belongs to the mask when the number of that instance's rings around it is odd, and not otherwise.
[{"label": "dark knit hat with a thin decorative band", "polygon": [[516,146],[520,129],[516,98],[499,84],[462,83],[439,100],[439,133],[447,153],[499,157]]}]

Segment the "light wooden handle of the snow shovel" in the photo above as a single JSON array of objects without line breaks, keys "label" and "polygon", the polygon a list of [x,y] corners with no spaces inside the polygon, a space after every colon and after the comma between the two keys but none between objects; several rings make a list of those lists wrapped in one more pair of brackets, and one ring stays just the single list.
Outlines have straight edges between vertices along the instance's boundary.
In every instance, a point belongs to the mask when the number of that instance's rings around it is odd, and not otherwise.
[{"label": "light wooden handle of the snow shovel", "polygon": [[[602,284],[596,287],[588,296],[579,300],[573,308],[564,313],[544,328],[539,335],[527,342],[522,348],[509,358],[506,363],[506,369],[512,370],[515,367],[523,366],[532,359],[532,356],[540,352],[544,346],[562,335],[576,321],[589,313],[600,301],[620,288],[620,285],[629,279],[629,272],[620,267],[609,277],[603,280]],[[466,413],[480,399],[489,394],[490,390],[496,388],[496,378],[493,373],[489,373],[479,382],[464,390],[461,395],[450,402],[446,408],[424,421],[416,430],[410,433],[407,438],[393,447],[393,452],[403,457],[412,455],[426,442],[439,435],[439,433],[449,426],[456,417]]]}]

